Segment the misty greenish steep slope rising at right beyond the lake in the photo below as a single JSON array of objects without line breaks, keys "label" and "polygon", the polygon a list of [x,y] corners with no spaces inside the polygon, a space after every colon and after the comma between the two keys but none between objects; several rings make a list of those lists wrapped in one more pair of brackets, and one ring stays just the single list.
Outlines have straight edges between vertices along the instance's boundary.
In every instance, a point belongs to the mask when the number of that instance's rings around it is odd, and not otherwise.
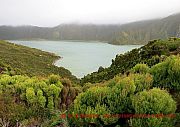
[{"label": "misty greenish steep slope rising at right beyond the lake", "polygon": [[141,21],[121,26],[113,44],[146,44],[157,38],[180,37],[180,14],[163,19]]}]

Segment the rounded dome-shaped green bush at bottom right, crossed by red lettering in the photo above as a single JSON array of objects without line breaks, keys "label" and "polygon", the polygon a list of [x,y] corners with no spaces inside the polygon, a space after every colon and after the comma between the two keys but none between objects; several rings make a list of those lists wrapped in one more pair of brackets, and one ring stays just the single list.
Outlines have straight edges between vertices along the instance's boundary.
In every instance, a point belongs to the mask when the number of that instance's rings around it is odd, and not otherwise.
[{"label": "rounded dome-shaped green bush at bottom right, crossed by red lettering", "polygon": [[167,91],[154,88],[149,91],[140,92],[133,96],[132,104],[135,109],[135,114],[164,115],[162,117],[155,116],[145,118],[145,116],[144,118],[132,118],[130,123],[133,127],[173,126],[172,118],[166,115],[175,113],[176,102]]}]

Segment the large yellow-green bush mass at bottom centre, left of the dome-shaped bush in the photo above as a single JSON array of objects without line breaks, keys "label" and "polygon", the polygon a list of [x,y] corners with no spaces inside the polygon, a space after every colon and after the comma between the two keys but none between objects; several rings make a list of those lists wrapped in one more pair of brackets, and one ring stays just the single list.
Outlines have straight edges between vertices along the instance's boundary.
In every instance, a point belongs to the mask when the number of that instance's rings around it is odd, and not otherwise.
[{"label": "large yellow-green bush mass at bottom centre, left of the dome-shaped bush", "polygon": [[[150,89],[152,77],[150,74],[130,74],[116,76],[110,81],[95,86],[87,84],[89,89],[78,95],[71,109],[72,114],[96,114],[95,118],[74,118],[72,124],[124,125],[129,118],[118,118],[109,115],[134,113],[132,96],[144,89]],[[85,86],[86,87],[86,86]],[[109,117],[107,117],[108,115]]]}]

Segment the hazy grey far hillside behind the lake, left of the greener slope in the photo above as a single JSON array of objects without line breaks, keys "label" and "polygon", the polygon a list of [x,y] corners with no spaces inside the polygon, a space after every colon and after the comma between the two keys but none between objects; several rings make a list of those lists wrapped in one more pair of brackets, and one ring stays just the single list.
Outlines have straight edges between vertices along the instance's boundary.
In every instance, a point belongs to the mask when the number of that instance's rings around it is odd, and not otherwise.
[{"label": "hazy grey far hillside behind the lake, left of the greener slope", "polygon": [[110,41],[119,25],[62,24],[53,28],[0,26],[0,39],[99,40]]}]

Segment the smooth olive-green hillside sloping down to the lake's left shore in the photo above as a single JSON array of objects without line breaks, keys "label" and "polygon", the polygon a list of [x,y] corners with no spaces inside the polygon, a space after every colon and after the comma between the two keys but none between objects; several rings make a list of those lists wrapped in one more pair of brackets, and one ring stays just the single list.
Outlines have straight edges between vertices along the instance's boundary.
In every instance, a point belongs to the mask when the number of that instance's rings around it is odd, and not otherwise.
[{"label": "smooth olive-green hillside sloping down to the lake's left shore", "polygon": [[53,65],[57,59],[52,53],[0,41],[0,65],[4,73],[43,77],[58,74],[75,81],[69,70]]}]

